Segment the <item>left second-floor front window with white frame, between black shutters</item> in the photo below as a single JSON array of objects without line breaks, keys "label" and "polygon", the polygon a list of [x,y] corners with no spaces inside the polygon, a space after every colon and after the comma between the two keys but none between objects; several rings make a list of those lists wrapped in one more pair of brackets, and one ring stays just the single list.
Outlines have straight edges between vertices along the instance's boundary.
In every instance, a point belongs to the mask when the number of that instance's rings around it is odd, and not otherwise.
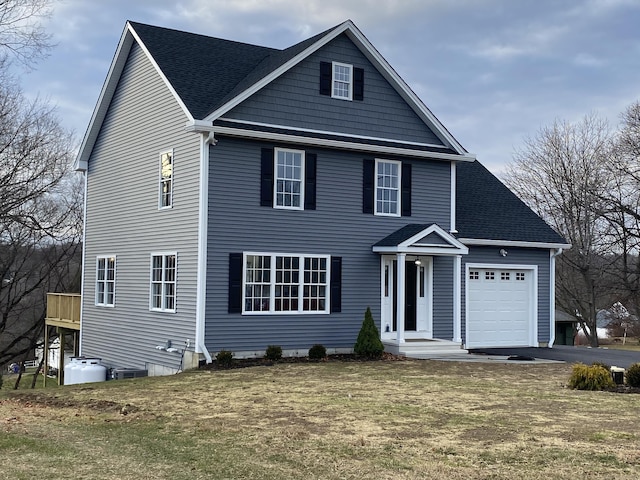
[{"label": "left second-floor front window with white frame, between black shutters", "polygon": [[275,149],[275,207],[304,208],[304,151]]}]

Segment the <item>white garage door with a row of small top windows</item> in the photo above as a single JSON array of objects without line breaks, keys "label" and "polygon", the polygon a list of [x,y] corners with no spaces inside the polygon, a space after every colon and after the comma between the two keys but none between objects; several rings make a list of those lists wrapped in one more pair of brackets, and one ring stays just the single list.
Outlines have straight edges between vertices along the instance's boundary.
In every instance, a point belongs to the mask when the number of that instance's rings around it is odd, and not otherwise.
[{"label": "white garage door with a row of small top windows", "polygon": [[469,267],[467,348],[533,345],[534,271]]}]

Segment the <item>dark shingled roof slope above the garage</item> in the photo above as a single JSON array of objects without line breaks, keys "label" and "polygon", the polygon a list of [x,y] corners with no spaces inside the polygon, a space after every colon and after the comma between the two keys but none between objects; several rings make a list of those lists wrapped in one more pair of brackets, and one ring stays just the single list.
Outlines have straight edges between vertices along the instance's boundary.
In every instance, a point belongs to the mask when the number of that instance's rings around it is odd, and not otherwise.
[{"label": "dark shingled roof slope above the garage", "polygon": [[[477,160],[456,165],[456,237],[464,244],[569,243]],[[539,246],[539,245],[537,245]]]}]

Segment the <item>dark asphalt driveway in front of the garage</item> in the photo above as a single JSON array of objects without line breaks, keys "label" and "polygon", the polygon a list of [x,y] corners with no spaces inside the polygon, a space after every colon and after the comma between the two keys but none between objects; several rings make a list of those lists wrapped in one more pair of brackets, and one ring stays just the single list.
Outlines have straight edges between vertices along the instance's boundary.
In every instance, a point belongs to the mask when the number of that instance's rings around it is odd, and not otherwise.
[{"label": "dark asphalt driveway in front of the garage", "polygon": [[558,345],[553,348],[480,348],[469,350],[469,353],[544,358],[567,363],[581,362],[587,365],[591,365],[593,362],[601,362],[622,368],[629,368],[629,365],[640,362],[640,352],[566,345]]}]

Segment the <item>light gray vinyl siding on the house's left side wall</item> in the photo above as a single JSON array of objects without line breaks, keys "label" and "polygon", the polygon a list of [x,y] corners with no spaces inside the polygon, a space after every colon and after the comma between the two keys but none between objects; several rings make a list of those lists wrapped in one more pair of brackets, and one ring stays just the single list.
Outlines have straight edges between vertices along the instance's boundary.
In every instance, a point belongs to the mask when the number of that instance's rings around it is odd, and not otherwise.
[{"label": "light gray vinyl siding on the house's left side wall", "polygon": [[[178,368],[195,338],[199,139],[134,44],[89,159],[82,354],[114,367]],[[159,153],[173,149],[173,208],[159,210]],[[151,312],[152,252],[177,253],[176,313]],[[116,256],[115,307],[94,305],[96,256]]]}]

